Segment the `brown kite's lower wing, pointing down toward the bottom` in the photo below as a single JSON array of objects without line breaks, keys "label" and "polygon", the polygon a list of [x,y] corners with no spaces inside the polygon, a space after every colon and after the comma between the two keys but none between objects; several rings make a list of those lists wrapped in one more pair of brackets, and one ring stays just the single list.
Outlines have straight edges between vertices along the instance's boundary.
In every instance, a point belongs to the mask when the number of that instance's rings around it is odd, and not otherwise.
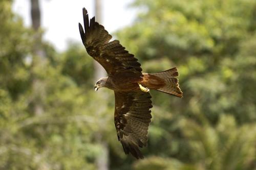
[{"label": "brown kite's lower wing, pointing down toward the bottom", "polygon": [[118,140],[125,154],[143,158],[139,147],[147,145],[147,130],[151,122],[150,93],[137,91],[115,91],[115,126]]}]

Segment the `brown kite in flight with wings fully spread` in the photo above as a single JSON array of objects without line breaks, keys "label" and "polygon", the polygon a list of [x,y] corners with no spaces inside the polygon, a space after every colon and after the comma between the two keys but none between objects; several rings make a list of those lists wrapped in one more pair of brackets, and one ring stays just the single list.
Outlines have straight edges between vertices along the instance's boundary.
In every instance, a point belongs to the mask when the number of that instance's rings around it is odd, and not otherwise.
[{"label": "brown kite in flight with wings fully spread", "polygon": [[108,73],[108,77],[96,82],[95,91],[101,87],[114,90],[114,121],[118,140],[125,154],[131,153],[142,159],[139,147],[147,145],[147,131],[152,118],[149,91],[154,89],[182,98],[177,68],[155,74],[143,73],[138,59],[126,51],[118,40],[110,41],[112,36],[95,21],[95,17],[89,22],[85,8],[82,12],[84,30],[79,23],[82,43],[88,54]]}]

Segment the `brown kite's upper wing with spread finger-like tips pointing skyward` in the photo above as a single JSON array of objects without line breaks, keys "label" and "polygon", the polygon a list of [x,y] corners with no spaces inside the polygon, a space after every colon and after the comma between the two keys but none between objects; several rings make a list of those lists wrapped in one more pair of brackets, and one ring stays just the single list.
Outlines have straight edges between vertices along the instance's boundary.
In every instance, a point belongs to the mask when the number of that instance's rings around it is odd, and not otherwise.
[{"label": "brown kite's upper wing with spread finger-like tips pointing skyward", "polygon": [[111,41],[112,36],[95,21],[95,17],[90,19],[88,12],[83,8],[83,23],[79,23],[79,31],[83,45],[90,56],[98,61],[109,75],[122,75],[141,79],[142,69],[138,59],[124,50],[118,40]]}]

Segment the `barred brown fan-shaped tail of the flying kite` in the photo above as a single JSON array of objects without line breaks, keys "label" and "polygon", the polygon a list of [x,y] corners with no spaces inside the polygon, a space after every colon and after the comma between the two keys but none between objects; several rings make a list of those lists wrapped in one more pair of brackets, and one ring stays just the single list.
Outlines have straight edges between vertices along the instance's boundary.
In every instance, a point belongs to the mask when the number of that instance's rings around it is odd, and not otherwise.
[{"label": "barred brown fan-shaped tail of the flying kite", "polygon": [[180,98],[183,97],[183,93],[179,87],[179,80],[177,78],[179,73],[176,67],[149,75],[154,75],[164,81],[164,86],[156,90],[172,94]]}]

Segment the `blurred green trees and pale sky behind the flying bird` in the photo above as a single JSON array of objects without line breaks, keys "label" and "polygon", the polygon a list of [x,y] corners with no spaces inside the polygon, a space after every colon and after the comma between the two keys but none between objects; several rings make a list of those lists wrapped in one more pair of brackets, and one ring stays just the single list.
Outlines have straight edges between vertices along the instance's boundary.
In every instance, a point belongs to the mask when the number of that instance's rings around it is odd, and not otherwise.
[{"label": "blurred green trees and pale sky behind the flying bird", "polygon": [[[72,3],[0,1],[0,169],[256,169],[255,0]],[[183,99],[151,91],[143,160],[123,153],[113,92],[94,92],[82,7],[144,72],[178,67]]]}]

